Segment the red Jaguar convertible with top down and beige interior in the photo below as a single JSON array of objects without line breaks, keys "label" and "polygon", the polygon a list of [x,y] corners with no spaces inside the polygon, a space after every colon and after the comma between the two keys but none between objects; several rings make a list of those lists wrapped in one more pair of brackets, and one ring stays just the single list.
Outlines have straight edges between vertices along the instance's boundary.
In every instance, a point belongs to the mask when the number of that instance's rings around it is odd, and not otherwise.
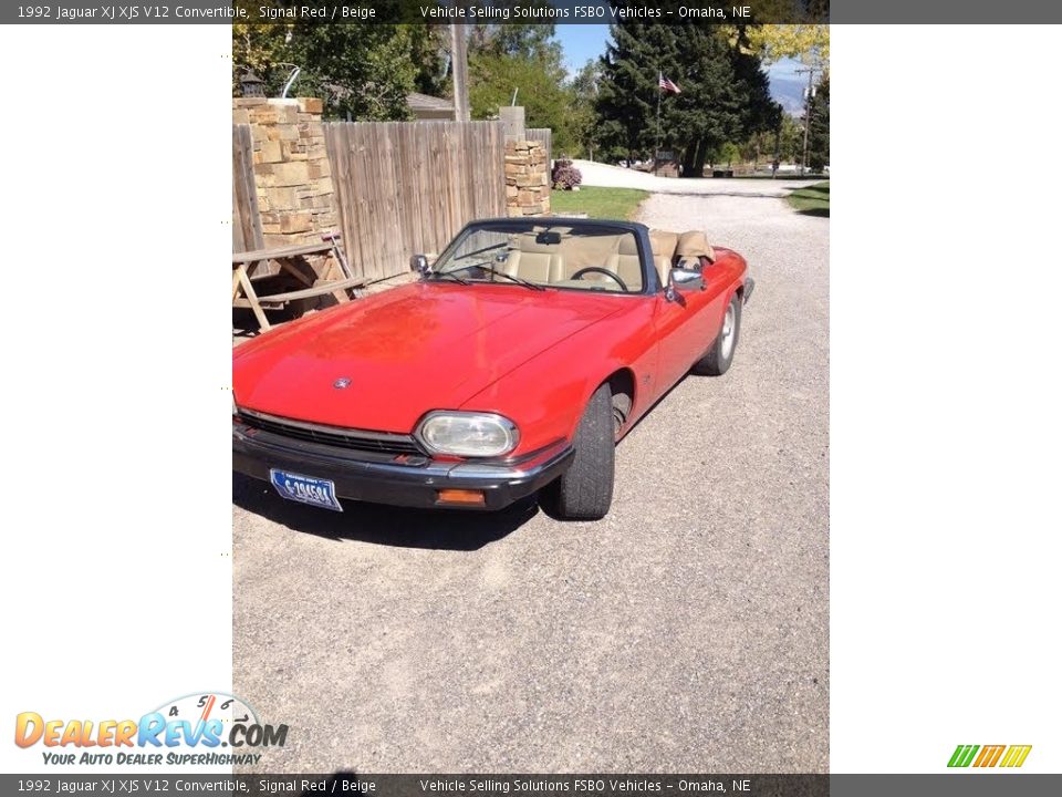
[{"label": "red Jaguar convertible with top down and beige interior", "polygon": [[730,366],[745,259],[624,221],[491,219],[420,279],[232,356],[232,463],[284,498],[555,517],[612,503],[615,443],[691,369]]}]

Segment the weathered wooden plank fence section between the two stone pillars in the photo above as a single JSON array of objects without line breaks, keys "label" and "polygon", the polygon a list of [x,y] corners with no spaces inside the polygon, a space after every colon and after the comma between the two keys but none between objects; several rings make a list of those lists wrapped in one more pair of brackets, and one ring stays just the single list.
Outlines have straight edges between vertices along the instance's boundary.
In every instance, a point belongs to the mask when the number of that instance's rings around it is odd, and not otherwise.
[{"label": "weathered wooden plank fence section between the two stone pillars", "polygon": [[324,141],[355,275],[399,273],[468,221],[506,214],[500,122],[335,122]]}]

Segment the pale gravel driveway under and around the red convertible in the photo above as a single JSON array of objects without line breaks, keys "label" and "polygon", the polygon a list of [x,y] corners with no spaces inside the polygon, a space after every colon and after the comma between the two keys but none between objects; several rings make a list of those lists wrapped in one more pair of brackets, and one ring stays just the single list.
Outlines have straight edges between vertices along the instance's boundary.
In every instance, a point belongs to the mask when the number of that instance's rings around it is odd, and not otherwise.
[{"label": "pale gravel driveway under and around the red convertible", "polygon": [[735,365],[560,524],[285,504],[233,475],[233,689],[270,772],[810,772],[829,763],[829,219],[655,195],[757,279]]}]

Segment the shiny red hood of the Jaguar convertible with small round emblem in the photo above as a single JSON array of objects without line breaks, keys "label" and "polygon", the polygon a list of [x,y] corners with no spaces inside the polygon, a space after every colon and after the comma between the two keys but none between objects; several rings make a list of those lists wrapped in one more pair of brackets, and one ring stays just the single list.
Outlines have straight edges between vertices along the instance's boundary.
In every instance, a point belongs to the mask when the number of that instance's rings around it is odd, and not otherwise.
[{"label": "shiny red hood of the Jaguar convertible with small round emblem", "polygon": [[[335,426],[410,432],[549,346],[617,312],[622,297],[417,282],[243,344],[242,407]],[[337,389],[337,380],[350,380]]]}]

